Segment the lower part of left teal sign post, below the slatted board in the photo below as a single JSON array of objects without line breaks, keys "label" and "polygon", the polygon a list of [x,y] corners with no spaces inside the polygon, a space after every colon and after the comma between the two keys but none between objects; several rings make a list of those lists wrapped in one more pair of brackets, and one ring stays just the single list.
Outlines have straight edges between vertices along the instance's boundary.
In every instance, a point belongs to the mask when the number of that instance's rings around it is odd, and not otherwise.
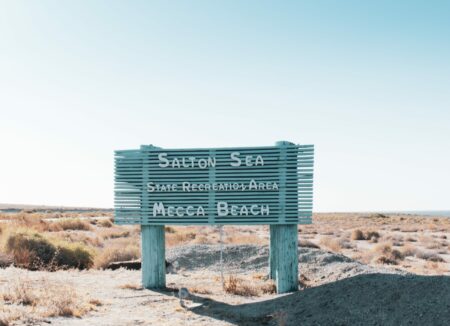
[{"label": "lower part of left teal sign post, below the slatted board", "polygon": [[166,287],[166,245],[164,226],[141,226],[142,287]]}]

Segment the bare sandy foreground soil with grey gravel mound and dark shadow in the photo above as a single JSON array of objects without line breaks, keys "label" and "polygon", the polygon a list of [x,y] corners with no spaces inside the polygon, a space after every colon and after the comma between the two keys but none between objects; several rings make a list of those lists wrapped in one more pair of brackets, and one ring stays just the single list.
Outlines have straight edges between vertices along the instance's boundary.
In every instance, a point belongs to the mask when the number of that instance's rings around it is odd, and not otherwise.
[{"label": "bare sandy foreground soil with grey gravel mound and dark shadow", "polygon": [[[447,325],[450,320],[450,277],[417,276],[302,248],[299,267],[307,288],[242,297],[222,291],[218,253],[217,245],[170,250],[168,260],[177,261],[178,270],[167,275],[165,291],[141,289],[140,271],[49,273],[14,267],[0,270],[0,289],[12,280],[63,282],[101,302],[82,318],[45,318],[34,325]],[[264,246],[226,246],[225,272],[252,282],[267,271],[267,255]],[[191,293],[183,308],[180,287],[208,294]]]}]

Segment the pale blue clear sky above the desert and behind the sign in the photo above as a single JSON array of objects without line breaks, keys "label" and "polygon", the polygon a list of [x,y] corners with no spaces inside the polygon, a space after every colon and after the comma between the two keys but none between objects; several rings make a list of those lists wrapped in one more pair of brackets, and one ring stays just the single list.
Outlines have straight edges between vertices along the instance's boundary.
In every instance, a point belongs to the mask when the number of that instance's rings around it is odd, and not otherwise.
[{"label": "pale blue clear sky above the desert and behind the sign", "polygon": [[113,151],[315,144],[315,211],[450,209],[449,1],[2,1],[0,202]]}]

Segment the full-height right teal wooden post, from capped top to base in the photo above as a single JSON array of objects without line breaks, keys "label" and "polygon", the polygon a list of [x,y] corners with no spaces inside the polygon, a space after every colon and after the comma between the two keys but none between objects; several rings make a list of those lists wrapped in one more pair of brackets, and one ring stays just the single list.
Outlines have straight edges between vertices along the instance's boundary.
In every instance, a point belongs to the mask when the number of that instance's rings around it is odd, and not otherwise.
[{"label": "full-height right teal wooden post, from capped top to base", "polygon": [[[281,149],[288,142],[277,142]],[[280,151],[280,161],[286,158],[286,151]],[[280,167],[280,204],[286,198],[286,167]],[[285,208],[280,206],[280,221],[285,218]],[[269,276],[275,280],[277,293],[298,290],[298,235],[296,224],[270,225]]]}]

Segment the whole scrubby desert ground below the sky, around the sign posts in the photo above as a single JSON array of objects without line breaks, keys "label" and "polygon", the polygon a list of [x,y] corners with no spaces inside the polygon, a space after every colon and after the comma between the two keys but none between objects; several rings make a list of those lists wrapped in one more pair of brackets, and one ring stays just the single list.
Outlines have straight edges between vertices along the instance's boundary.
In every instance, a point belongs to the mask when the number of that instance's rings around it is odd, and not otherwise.
[{"label": "whole scrubby desert ground below the sky, around the sign posts", "polygon": [[111,211],[1,213],[0,325],[448,325],[450,218],[314,214],[298,235],[300,291],[276,295],[267,226],[224,226],[222,267],[218,227],[167,226],[151,291],[108,268],[140,256]]}]

